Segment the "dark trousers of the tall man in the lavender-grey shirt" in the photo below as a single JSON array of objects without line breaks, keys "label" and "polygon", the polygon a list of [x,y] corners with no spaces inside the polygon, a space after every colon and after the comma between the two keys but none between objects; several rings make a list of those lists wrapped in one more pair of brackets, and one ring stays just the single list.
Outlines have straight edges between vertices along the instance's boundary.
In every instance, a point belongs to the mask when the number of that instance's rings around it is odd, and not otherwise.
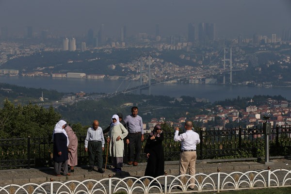
[{"label": "dark trousers of the tall man in the lavender-grey shirt", "polygon": [[139,162],[142,149],[142,134],[140,132],[129,133],[128,136],[129,136],[129,161]]}]

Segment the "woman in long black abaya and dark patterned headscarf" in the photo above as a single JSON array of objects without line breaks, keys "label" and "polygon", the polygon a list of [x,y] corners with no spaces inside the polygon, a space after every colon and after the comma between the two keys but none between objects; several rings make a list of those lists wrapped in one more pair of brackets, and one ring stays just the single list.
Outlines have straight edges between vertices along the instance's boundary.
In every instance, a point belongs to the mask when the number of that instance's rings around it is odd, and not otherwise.
[{"label": "woman in long black abaya and dark patterned headscarf", "polygon": [[162,148],[162,127],[156,125],[146,140],[145,153],[147,165],[145,176],[153,178],[164,175],[164,154]]}]

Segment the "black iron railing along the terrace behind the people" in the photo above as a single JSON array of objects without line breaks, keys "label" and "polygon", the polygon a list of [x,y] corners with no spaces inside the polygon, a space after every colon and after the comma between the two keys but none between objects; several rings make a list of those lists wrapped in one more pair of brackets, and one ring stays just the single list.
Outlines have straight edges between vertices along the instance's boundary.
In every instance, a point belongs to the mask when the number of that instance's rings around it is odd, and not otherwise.
[{"label": "black iron railing along the terrace behind the people", "polygon": [[[262,128],[206,129],[197,131],[201,143],[197,145],[197,159],[253,158],[264,156]],[[147,139],[148,134],[145,134]],[[291,126],[276,126],[270,137],[270,155],[291,154]],[[78,135],[78,164],[88,164],[84,149],[85,136]],[[144,149],[146,141],[143,142]],[[165,161],[178,161],[180,143],[174,142],[173,132],[164,132]],[[51,137],[0,139],[0,169],[52,166]],[[103,152],[106,159],[107,143]],[[109,160],[110,161],[110,160]],[[146,162],[142,154],[141,161]]]}]

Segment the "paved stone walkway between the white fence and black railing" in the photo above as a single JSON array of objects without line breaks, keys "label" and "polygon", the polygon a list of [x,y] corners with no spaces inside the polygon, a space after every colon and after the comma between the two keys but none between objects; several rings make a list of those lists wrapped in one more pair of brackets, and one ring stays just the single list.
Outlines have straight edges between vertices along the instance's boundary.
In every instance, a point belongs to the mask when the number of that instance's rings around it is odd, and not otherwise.
[{"label": "paved stone walkway between the white fence and black railing", "polygon": [[[266,170],[268,166],[271,170],[287,169],[291,170],[291,160],[288,159],[273,159],[270,162],[274,164],[264,164],[259,162],[225,162],[221,161],[197,161],[196,173],[215,173],[219,168],[221,172],[246,172],[250,170]],[[71,176],[54,176],[53,168],[31,168],[31,169],[13,169],[0,170],[0,186],[9,184],[26,184],[26,183],[42,183],[50,181],[51,178],[56,181],[67,180],[86,180],[86,179],[102,179],[108,178],[109,175],[118,178],[124,177],[143,177],[146,169],[146,163],[139,163],[138,166],[129,166],[127,164],[122,168],[122,172],[113,173],[110,169],[106,169],[105,173],[100,174],[96,171],[88,172],[87,166],[75,167],[75,172]],[[168,175],[178,175],[178,162],[165,162],[165,172]]]}]

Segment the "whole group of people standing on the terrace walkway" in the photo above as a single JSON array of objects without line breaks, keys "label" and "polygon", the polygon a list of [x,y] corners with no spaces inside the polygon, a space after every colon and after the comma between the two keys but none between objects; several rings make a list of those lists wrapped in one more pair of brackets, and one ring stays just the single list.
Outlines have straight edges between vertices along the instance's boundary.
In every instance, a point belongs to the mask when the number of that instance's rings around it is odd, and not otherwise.
[{"label": "whole group of people standing on the terrace walkway", "polygon": [[[104,131],[99,127],[97,120],[93,121],[92,127],[88,128],[85,139],[85,151],[89,156],[89,170],[94,170],[97,164],[97,172],[104,173],[102,169],[105,138],[114,168],[113,172],[120,172],[123,163],[137,166],[141,145],[144,141],[144,129],[142,117],[138,115],[136,106],[131,108],[131,114],[123,119],[122,113],[113,114],[111,124]],[[179,128],[175,129],[174,141],[181,142],[181,152],[179,161],[179,175],[185,175],[189,169],[190,175],[195,175],[196,145],[200,143],[199,134],[194,132],[193,123],[186,121],[186,132],[179,135]],[[161,125],[156,125],[149,133],[146,140],[145,153],[147,165],[145,176],[158,177],[164,174],[164,153],[162,141],[164,139]],[[78,140],[73,130],[60,120],[53,132],[54,141],[54,169],[56,176],[70,175],[77,165]],[[127,152],[129,154],[127,154]],[[108,153],[108,150],[107,150]],[[128,157],[127,157],[128,156]],[[68,165],[70,169],[68,171]],[[194,189],[194,178],[190,180],[190,189]],[[181,187],[178,187],[181,189]]]}]

